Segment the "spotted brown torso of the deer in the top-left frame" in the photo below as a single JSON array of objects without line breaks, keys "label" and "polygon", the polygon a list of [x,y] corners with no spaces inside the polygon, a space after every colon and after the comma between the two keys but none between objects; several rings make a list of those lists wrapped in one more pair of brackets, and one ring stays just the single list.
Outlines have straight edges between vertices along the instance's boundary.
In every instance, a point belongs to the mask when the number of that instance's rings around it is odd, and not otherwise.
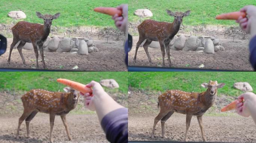
[{"label": "spotted brown torso of the deer in the top-left frame", "polygon": [[25,42],[40,39],[43,32],[43,25],[38,23],[20,21],[12,27],[13,36]]}]

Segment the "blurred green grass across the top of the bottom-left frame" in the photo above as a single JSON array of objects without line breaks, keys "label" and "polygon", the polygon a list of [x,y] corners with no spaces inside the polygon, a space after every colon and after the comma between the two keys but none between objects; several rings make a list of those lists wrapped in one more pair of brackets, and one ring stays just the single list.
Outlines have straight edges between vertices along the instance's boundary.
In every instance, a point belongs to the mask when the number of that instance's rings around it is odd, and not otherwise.
[{"label": "blurred green grass across the top of the bottom-left frame", "polygon": [[127,72],[1,72],[0,91],[28,91],[30,89],[45,89],[50,91],[63,91],[65,87],[58,83],[58,78],[74,80],[87,84],[91,80],[100,82],[101,79],[115,79],[119,84],[118,89],[104,88],[111,93],[128,93]]}]

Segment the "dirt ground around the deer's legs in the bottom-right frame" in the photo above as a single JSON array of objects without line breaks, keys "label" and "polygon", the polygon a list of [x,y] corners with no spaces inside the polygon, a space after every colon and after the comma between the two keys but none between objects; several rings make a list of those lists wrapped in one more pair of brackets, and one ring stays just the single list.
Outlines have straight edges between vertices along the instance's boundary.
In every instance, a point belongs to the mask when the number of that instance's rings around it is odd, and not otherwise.
[{"label": "dirt ground around the deer's legs in the bottom-right frame", "polygon": [[[129,90],[128,140],[129,141],[184,141],[186,115],[174,113],[165,122],[165,138],[162,138],[161,123],[156,125],[155,139],[151,139],[154,118],[158,115],[157,97],[161,93],[144,93]],[[251,117],[244,118],[234,111],[220,114],[220,108],[234,101],[233,97],[217,96],[213,107],[203,115],[207,142],[247,142],[256,140],[256,125]],[[201,130],[196,117],[192,117],[188,140],[202,142]]]}]

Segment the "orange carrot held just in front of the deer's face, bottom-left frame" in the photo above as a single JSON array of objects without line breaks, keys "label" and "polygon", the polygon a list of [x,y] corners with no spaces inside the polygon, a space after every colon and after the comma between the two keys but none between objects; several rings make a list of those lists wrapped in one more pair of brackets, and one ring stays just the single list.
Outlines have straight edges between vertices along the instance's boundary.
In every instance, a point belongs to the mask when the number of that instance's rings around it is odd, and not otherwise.
[{"label": "orange carrot held just in front of the deer's face, bottom-left frame", "polygon": [[76,89],[82,93],[92,93],[92,89],[86,87],[86,85],[83,85],[82,83],[79,82],[74,82],[72,80],[68,79],[57,79],[57,82],[62,83],[64,85],[67,85],[73,89]]}]

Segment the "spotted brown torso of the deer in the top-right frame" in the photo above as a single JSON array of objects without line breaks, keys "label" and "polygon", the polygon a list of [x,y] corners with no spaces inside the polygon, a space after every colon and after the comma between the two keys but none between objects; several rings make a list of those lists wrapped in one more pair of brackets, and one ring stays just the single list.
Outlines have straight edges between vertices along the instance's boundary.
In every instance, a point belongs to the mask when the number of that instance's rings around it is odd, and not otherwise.
[{"label": "spotted brown torso of the deer in the top-right frame", "polygon": [[169,33],[167,31],[169,31],[171,25],[172,23],[147,19],[138,26],[138,32],[145,38],[158,41],[159,38],[168,38]]}]

